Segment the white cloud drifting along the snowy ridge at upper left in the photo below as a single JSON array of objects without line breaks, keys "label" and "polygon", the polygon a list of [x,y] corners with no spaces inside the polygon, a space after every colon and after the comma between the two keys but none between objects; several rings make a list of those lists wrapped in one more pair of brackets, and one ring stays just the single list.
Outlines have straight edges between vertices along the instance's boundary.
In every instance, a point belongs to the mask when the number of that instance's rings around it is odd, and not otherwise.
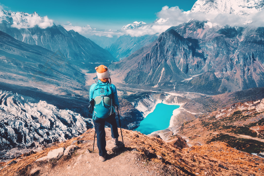
[{"label": "white cloud drifting along the snowy ridge at upper left", "polygon": [[33,14],[28,13],[12,13],[13,18],[12,27],[20,28],[32,28],[39,26],[40,28],[47,28],[53,26],[53,20],[49,19],[48,16],[40,17],[36,12]]}]

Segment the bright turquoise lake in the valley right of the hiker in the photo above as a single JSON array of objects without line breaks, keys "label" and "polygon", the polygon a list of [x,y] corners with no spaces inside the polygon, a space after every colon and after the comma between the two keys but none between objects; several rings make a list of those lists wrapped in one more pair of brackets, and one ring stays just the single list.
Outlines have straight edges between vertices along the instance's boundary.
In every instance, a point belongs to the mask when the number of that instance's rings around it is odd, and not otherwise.
[{"label": "bright turquoise lake in the valley right of the hiker", "polygon": [[158,103],[154,111],[147,115],[139,124],[135,131],[139,131],[145,135],[153,131],[164,130],[169,127],[169,121],[173,115],[173,110],[179,108],[179,105],[168,105]]}]

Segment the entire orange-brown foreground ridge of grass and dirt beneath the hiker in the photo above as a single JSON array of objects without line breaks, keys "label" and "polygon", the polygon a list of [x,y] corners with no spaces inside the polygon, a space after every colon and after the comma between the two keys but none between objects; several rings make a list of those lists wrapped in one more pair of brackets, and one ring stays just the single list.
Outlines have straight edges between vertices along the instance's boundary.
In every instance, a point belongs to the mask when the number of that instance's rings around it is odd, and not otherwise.
[{"label": "entire orange-brown foreground ridge of grass and dirt beneath the hiker", "polygon": [[[107,140],[110,129],[107,129]],[[1,163],[4,175],[263,175],[263,158],[231,148],[224,142],[178,149],[156,137],[124,130],[126,148],[110,152],[103,165],[93,146],[92,129],[74,139],[57,143],[38,153]],[[54,161],[37,161],[51,150],[66,148],[74,140],[78,149]],[[115,172],[113,172],[115,171]]]}]

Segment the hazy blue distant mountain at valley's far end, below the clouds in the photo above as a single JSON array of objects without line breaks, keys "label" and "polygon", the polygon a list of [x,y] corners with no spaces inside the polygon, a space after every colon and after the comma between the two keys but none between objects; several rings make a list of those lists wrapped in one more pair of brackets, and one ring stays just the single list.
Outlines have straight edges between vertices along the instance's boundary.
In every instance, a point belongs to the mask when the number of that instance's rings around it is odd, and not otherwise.
[{"label": "hazy blue distant mountain at valley's far end, below the clouds", "polygon": [[110,47],[106,49],[117,59],[124,59],[141,47],[152,43],[157,39],[156,35],[143,35],[131,37],[130,35],[120,36]]}]

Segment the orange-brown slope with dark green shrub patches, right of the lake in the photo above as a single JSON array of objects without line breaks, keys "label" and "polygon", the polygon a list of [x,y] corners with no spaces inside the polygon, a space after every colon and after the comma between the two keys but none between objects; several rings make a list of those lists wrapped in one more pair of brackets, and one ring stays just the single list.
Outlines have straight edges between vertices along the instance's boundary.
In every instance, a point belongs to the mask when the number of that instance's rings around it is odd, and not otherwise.
[{"label": "orange-brown slope with dark green shrub patches, right of the lake", "polygon": [[264,149],[264,99],[234,103],[197,119],[185,122],[178,130],[189,142],[206,144],[211,141],[227,142],[248,153]]}]

